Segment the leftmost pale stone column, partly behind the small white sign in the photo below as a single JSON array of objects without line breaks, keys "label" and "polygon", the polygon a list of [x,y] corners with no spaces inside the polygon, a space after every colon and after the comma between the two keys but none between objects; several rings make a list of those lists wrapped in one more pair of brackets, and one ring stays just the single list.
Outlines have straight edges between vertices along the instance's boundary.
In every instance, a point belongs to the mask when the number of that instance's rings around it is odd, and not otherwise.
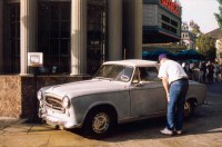
[{"label": "leftmost pale stone column, partly behind the small white sign", "polygon": [[37,0],[20,1],[20,75],[28,74],[28,52],[37,50]]}]

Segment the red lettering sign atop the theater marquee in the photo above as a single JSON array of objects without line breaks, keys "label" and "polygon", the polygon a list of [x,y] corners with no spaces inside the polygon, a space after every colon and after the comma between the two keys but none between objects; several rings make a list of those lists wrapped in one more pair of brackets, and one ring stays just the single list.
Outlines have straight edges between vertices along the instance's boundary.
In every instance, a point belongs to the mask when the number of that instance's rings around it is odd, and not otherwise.
[{"label": "red lettering sign atop the theater marquee", "polygon": [[173,2],[172,0],[161,0],[161,3],[173,13],[181,16],[181,7],[176,2]]}]

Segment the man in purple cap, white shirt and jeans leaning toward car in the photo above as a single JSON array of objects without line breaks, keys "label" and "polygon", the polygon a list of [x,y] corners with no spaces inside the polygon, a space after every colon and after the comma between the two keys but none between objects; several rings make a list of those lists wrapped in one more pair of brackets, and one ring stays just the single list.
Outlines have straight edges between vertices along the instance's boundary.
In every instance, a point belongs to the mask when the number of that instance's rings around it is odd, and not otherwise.
[{"label": "man in purple cap, white shirt and jeans leaning toward car", "polygon": [[168,99],[168,124],[160,133],[182,134],[185,96],[189,88],[188,75],[180,63],[168,59],[165,53],[159,56],[159,61],[158,77],[162,79]]}]

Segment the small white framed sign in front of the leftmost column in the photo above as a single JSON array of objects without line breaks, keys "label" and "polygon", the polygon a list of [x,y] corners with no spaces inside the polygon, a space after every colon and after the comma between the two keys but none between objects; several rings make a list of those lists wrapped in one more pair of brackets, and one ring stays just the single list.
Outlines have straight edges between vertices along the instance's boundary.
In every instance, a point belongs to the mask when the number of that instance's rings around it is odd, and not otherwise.
[{"label": "small white framed sign in front of the leftmost column", "polygon": [[42,52],[28,52],[28,66],[42,67],[43,66],[43,53]]}]

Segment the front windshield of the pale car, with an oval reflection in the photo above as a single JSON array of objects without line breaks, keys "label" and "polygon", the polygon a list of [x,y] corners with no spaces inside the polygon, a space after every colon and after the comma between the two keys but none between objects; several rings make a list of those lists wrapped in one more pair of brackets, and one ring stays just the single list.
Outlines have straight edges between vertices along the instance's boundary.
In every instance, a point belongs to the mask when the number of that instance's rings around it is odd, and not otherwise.
[{"label": "front windshield of the pale car, with an oval reflection", "polygon": [[103,65],[95,74],[94,78],[110,79],[128,82],[132,77],[133,67],[121,65]]}]

